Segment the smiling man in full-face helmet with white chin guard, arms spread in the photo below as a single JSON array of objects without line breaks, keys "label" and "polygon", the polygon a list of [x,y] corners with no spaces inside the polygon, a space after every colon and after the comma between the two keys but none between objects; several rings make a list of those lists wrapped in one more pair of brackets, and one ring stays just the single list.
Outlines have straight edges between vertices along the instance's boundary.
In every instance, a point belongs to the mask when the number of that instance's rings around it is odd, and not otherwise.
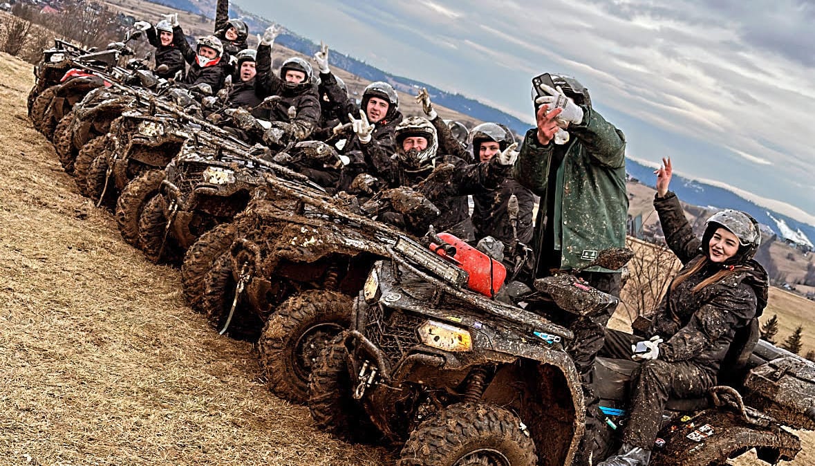
[{"label": "smiling man in full-face helmet with white chin guard, arms spread", "polygon": [[[428,219],[437,231],[448,231],[465,240],[472,240],[469,229],[467,196],[496,189],[512,169],[517,144],[506,147],[496,157],[478,164],[467,164],[458,156],[438,153],[436,128],[422,116],[408,116],[394,130],[396,151],[392,156],[372,159],[366,186],[376,193],[387,188],[414,187],[430,200],[441,213]],[[346,167],[348,168],[348,167]],[[411,232],[423,234],[425,224],[408,225],[399,215],[379,218]],[[421,231],[425,230],[425,231]]]}]

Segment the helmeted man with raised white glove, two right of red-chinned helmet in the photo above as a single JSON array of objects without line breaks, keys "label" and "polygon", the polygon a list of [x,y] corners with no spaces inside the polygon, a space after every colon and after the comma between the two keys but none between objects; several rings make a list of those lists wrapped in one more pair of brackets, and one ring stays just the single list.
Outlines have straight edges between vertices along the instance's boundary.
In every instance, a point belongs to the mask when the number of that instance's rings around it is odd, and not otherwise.
[{"label": "helmeted man with raised white glove, two right of red-chinned helmet", "polygon": [[317,86],[311,65],[298,57],[280,65],[280,77],[271,72],[271,47],[279,33],[280,27],[276,24],[263,33],[258,45],[255,90],[259,97],[280,97],[261,117],[276,122],[275,127],[283,130],[284,140],[302,141],[311,136],[319,121]]}]

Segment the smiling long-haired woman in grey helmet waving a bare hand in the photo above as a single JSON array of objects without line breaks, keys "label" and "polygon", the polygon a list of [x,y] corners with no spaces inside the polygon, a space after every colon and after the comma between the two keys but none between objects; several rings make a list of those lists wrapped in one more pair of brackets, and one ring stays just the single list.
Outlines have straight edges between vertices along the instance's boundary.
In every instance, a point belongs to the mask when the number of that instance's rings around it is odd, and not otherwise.
[{"label": "smiling long-haired woman in grey helmet waving a bare hand", "polygon": [[[682,269],[641,340],[609,332],[603,355],[642,361],[630,395],[623,446],[601,466],[645,466],[662,424],[668,398],[702,397],[717,385],[734,335],[767,305],[767,272],[753,259],[761,243],[758,222],[747,213],[723,210],[707,219],[700,241],[676,195],[668,191],[670,159],[657,170],[654,207],[668,246]],[[632,355],[632,352],[634,353]]]}]

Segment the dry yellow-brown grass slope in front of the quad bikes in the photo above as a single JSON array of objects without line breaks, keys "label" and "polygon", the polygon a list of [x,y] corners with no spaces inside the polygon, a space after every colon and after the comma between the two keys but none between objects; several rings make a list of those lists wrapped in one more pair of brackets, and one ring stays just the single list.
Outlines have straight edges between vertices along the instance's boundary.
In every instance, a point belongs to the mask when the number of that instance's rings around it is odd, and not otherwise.
[{"label": "dry yellow-brown grass slope in front of the quad bikes", "polygon": [[271,395],[252,346],[77,193],[25,115],[31,65],[0,54],[0,73],[0,463],[390,461]]}]

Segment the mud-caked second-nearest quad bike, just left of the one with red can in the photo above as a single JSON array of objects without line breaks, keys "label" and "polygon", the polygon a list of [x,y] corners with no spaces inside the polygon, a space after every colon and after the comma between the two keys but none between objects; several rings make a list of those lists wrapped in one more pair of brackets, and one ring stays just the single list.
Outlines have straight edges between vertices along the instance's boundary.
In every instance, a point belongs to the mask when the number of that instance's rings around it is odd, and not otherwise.
[{"label": "mud-caked second-nearest quad bike, just left of the one with red can", "polygon": [[355,288],[397,231],[351,213],[353,199],[267,178],[266,199],[236,219],[240,234],[203,280],[201,308],[222,333],[259,332],[267,385],[304,402],[312,361],[350,323]]}]

